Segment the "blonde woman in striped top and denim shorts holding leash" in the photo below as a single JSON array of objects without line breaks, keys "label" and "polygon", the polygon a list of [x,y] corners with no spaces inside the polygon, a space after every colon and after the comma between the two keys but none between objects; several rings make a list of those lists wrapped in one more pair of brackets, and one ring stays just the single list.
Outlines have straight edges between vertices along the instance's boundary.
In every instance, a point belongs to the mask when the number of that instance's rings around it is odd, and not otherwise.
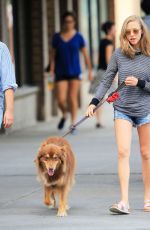
[{"label": "blonde woman in striped top and denim shorts holding leash", "polygon": [[150,35],[143,20],[130,16],[123,23],[120,48],[111,58],[105,76],[86,115],[104,97],[118,72],[119,84],[125,81],[120,98],[114,102],[115,133],[118,149],[118,174],[121,199],[110,207],[118,214],[129,214],[129,157],[132,126],[137,127],[144,182],[144,211],[150,211]]}]

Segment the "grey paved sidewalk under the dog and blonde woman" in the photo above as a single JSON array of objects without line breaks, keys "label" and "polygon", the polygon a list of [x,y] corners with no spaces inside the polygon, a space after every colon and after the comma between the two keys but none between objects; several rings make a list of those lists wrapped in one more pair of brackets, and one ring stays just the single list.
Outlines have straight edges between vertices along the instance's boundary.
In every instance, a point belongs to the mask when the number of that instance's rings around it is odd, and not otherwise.
[{"label": "grey paved sidewalk under the dog and blonde woman", "polygon": [[77,135],[67,137],[76,154],[77,170],[66,218],[56,217],[56,210],[43,205],[42,188],[36,181],[33,163],[42,140],[60,135],[56,130],[58,120],[0,136],[0,229],[150,230],[150,214],[142,211],[141,162],[135,130],[130,181],[133,210],[128,216],[115,216],[108,211],[119,200],[112,120],[112,107],[107,104],[103,113],[104,129],[95,129],[95,120],[91,119],[79,127]]}]

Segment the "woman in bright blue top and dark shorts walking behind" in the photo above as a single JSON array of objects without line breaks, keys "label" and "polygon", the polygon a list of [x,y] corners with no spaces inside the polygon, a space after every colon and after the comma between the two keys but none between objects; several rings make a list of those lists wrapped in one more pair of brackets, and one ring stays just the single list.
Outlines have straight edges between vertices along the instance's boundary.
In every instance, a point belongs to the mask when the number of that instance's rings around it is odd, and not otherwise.
[{"label": "woman in bright blue top and dark shorts walking behind", "polygon": [[70,103],[71,125],[76,121],[78,95],[81,80],[80,51],[89,70],[92,80],[92,66],[83,36],[75,29],[76,16],[66,12],[62,17],[62,30],[55,33],[52,39],[50,75],[55,76],[56,96],[62,118],[58,129],[64,127],[67,118],[67,102]]}]

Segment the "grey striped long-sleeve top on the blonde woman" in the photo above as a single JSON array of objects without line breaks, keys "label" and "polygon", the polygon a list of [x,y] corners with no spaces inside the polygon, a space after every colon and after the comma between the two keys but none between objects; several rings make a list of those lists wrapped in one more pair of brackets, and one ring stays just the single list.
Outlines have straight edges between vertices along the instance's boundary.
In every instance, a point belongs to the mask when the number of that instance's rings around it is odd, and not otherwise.
[{"label": "grey striped long-sleeve top on the blonde woman", "polygon": [[150,57],[140,53],[131,59],[117,48],[97,89],[95,97],[98,100],[104,97],[117,72],[119,84],[127,76],[135,76],[145,81],[145,87],[125,86],[120,91],[119,99],[114,102],[114,108],[129,116],[143,117],[150,114]]}]

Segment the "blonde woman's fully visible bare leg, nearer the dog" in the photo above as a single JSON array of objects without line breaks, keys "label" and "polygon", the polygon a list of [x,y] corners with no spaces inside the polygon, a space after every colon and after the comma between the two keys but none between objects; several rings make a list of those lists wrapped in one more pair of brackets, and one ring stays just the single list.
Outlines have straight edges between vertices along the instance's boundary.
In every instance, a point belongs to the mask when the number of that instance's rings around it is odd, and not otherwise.
[{"label": "blonde woman's fully visible bare leg, nearer the dog", "polygon": [[118,149],[118,174],[121,189],[121,201],[128,204],[129,157],[132,137],[132,123],[124,119],[115,120],[115,133]]}]

